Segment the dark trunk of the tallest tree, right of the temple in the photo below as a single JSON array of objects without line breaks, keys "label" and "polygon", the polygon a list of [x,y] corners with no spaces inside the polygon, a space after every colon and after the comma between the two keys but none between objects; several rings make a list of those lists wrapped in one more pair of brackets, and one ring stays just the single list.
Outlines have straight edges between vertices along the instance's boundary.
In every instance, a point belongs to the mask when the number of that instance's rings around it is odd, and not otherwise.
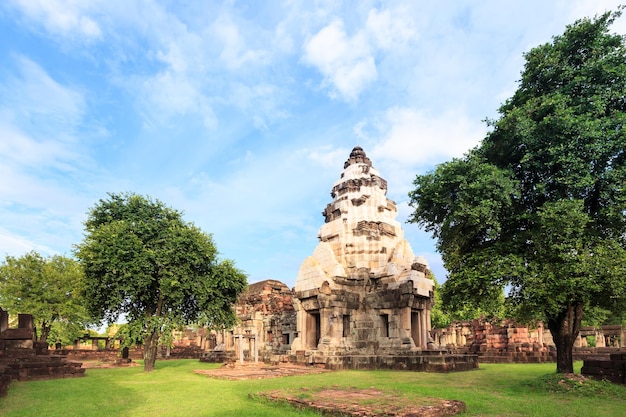
[{"label": "dark trunk of the tallest tree, right of the temple", "polygon": [[572,351],[583,318],[583,304],[568,305],[556,317],[548,318],[548,329],[556,345],[556,371],[574,373]]}]

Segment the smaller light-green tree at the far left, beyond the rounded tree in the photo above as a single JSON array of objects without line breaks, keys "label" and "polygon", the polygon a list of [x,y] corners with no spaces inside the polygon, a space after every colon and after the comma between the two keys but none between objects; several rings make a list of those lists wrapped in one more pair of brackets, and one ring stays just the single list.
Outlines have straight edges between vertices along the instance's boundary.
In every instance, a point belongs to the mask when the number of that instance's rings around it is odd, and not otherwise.
[{"label": "smaller light-green tree at the far left, beyond the rounded tree", "polygon": [[0,265],[0,306],[10,314],[32,314],[35,338],[53,343],[55,331],[90,324],[83,284],[83,270],[74,259],[44,258],[35,251],[19,258],[7,256]]}]

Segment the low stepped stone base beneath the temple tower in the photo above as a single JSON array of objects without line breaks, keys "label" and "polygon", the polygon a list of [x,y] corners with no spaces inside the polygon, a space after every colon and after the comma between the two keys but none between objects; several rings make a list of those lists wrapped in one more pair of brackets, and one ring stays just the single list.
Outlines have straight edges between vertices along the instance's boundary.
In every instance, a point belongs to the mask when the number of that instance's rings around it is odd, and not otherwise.
[{"label": "low stepped stone base beneath the temple tower", "polygon": [[422,372],[459,372],[478,369],[478,356],[451,355],[441,351],[407,352],[398,355],[326,355],[310,350],[296,355],[300,364],[323,365],[326,369],[390,369]]}]

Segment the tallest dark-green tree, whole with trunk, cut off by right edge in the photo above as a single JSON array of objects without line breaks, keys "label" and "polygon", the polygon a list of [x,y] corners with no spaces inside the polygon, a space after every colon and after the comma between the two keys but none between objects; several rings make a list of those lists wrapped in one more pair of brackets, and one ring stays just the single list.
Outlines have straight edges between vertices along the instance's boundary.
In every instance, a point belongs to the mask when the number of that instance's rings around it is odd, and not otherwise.
[{"label": "tallest dark-green tree, whole with trunk, cut off by right edge", "polygon": [[465,157],[418,176],[410,221],[437,239],[453,308],[507,290],[544,320],[572,372],[583,311],[624,308],[626,48],[620,11],[567,26],[525,54],[513,97]]}]

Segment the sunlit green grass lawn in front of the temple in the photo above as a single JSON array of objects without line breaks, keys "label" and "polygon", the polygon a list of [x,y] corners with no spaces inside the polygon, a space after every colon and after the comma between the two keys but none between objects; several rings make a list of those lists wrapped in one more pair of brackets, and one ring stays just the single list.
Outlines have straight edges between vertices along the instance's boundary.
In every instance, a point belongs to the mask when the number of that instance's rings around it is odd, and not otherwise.
[{"label": "sunlit green grass lawn in front of the temple", "polygon": [[248,394],[344,386],[461,400],[467,405],[466,415],[626,416],[626,387],[595,381],[563,387],[554,364],[482,364],[476,371],[451,374],[342,371],[248,381],[216,380],[192,372],[217,366],[195,360],[157,361],[152,373],[144,373],[142,367],[89,369],[84,378],[14,382],[9,395],[0,399],[0,415],[314,416]]}]

